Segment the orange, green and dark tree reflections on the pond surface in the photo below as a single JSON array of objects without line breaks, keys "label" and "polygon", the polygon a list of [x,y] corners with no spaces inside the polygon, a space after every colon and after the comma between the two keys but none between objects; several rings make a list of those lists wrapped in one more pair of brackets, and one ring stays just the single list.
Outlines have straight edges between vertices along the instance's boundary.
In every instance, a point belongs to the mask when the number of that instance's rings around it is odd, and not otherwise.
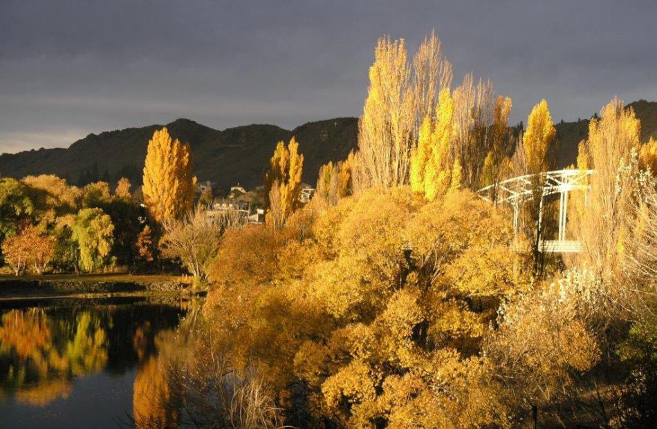
[{"label": "orange, green and dark tree reflections on the pond surface", "polygon": [[136,366],[138,377],[161,385],[154,382],[155,339],[176,327],[184,311],[184,305],[134,303],[0,310],[0,401],[48,406],[68,399],[75,379]]}]

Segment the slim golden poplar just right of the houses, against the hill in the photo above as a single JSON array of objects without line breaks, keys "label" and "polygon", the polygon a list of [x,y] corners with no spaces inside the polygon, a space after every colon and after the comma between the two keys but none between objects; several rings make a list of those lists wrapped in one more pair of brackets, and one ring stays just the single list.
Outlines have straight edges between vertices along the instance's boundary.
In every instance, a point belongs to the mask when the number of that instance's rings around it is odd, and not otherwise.
[{"label": "slim golden poplar just right of the houses, against the hill", "polygon": [[[299,208],[303,168],[304,155],[299,153],[299,144],[295,138],[292,137],[287,147],[283,142],[279,142],[269,160],[269,169],[265,175],[268,223],[282,225],[293,211]],[[275,216],[276,220],[272,216]]]}]

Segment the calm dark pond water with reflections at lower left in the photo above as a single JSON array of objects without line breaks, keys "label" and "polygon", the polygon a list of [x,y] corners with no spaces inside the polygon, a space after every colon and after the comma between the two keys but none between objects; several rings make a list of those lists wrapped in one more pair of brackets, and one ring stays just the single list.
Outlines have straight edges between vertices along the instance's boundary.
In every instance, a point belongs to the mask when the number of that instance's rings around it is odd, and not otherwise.
[{"label": "calm dark pond water with reflections at lower left", "polygon": [[0,303],[0,428],[129,426],[187,307],[144,298]]}]

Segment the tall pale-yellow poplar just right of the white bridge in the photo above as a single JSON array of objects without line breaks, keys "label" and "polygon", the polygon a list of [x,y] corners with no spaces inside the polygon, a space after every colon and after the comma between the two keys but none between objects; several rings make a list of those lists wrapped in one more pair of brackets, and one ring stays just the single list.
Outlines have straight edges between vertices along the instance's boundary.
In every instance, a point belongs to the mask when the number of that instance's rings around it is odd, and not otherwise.
[{"label": "tall pale-yellow poplar just right of the white bridge", "polygon": [[575,200],[573,229],[582,251],[576,263],[607,276],[619,268],[631,222],[633,180],[640,121],[632,108],[614,98],[589,122],[589,138],[580,144],[577,166],[593,169],[588,201]]}]

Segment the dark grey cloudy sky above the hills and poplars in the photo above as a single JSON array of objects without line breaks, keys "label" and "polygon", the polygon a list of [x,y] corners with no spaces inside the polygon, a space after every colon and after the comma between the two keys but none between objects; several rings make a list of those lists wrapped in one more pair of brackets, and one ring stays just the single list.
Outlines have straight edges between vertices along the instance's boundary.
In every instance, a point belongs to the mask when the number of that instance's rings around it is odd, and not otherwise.
[{"label": "dark grey cloudy sky above the hills and poplars", "polygon": [[454,81],[512,121],[657,100],[657,1],[0,0],[0,153],[186,117],[291,129],[359,116],[378,37],[436,30]]}]

